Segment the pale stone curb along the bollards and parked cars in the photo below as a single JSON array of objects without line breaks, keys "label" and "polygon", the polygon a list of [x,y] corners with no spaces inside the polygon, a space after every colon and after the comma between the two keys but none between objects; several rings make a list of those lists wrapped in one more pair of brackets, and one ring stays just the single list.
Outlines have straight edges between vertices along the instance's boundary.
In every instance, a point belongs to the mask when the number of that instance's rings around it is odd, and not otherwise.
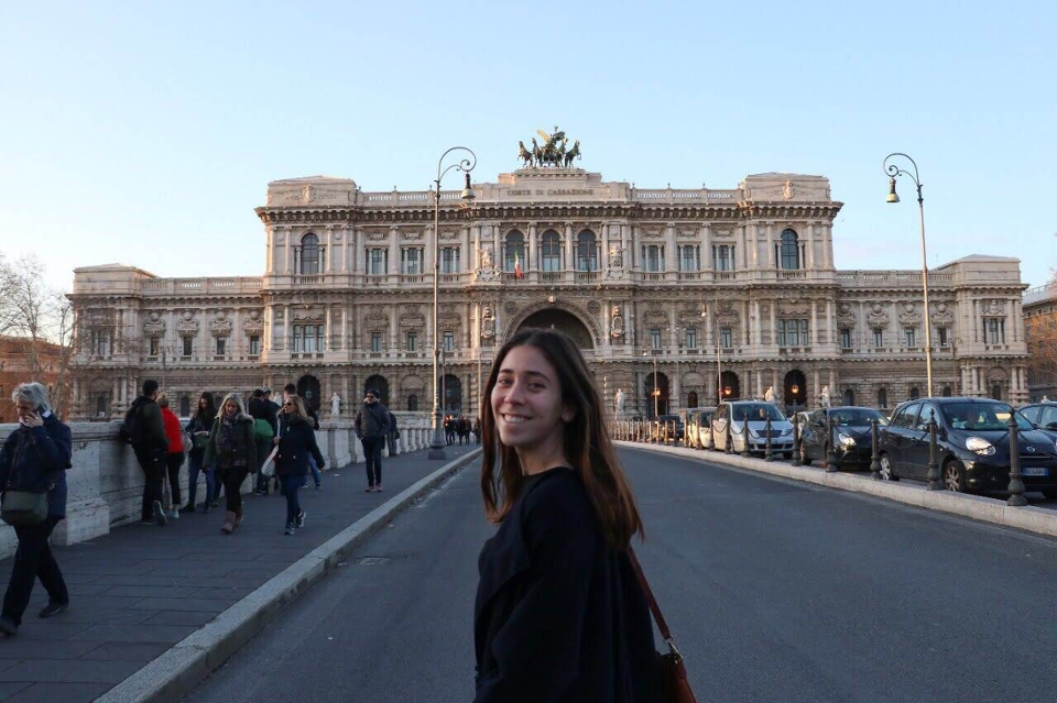
[{"label": "pale stone curb along the bollards and parked cars", "polygon": [[1013,527],[1036,535],[1057,537],[1057,512],[1046,510],[1031,505],[1013,507],[1006,505],[1004,501],[981,495],[951,493],[949,491],[926,491],[924,487],[917,487],[913,484],[901,485],[892,481],[874,481],[870,476],[860,474],[826,473],[822,469],[793,466],[791,464],[767,462],[762,459],[730,455],[715,451],[702,452],[700,450],[685,449],[682,447],[657,447],[624,440],[613,443],[629,449],[675,454],[687,459],[696,459],[701,462],[737,466],[756,473],[837,488],[838,491],[863,493],[895,503],[925,508],[926,510],[959,515],[981,523],[991,523],[992,525]]}]

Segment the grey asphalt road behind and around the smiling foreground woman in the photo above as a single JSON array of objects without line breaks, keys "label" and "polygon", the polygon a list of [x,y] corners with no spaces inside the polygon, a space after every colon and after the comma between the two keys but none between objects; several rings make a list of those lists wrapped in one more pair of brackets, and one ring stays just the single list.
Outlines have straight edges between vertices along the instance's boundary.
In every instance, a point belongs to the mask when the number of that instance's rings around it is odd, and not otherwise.
[{"label": "grey asphalt road behind and around the smiling foreground woman", "polygon": [[[701,700],[1054,700],[1057,541],[621,450]],[[188,700],[468,701],[483,523],[466,470]],[[1049,693],[1046,693],[1049,691]]]}]

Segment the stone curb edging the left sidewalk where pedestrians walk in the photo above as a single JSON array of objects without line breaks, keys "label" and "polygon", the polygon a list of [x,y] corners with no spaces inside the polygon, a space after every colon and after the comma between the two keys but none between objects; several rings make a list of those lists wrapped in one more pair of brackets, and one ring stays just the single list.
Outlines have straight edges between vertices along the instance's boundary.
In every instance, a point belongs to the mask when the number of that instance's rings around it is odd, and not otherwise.
[{"label": "stone curb edging the left sidewalk where pedestrians walk", "polygon": [[481,453],[471,451],[421,479],[292,563],[201,629],[113,686],[96,703],[178,701],[389,520]]}]

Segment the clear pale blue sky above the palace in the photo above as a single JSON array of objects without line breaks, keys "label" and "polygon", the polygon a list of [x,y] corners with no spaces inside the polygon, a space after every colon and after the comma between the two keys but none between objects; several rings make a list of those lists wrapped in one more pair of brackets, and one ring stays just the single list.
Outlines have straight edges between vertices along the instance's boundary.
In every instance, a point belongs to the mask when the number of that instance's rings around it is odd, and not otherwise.
[{"label": "clear pale blue sky above the palace", "polygon": [[[604,7],[601,12],[598,8]],[[428,187],[448,146],[478,180],[559,124],[580,165],[640,187],[821,174],[839,268],[1057,264],[1051,2],[7,3],[0,250],[51,282],[122,262],[255,275],[269,180]],[[453,184],[445,184],[454,186]]]}]

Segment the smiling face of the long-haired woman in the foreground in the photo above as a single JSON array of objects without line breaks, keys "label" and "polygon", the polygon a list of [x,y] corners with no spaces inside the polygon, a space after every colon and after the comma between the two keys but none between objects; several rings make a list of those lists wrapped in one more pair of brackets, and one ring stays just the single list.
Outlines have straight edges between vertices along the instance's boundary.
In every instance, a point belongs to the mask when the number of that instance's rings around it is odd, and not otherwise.
[{"label": "smiling face of the long-haired woman in the foreground", "polygon": [[563,432],[571,410],[562,405],[554,366],[535,347],[514,347],[503,359],[492,388],[492,414],[500,440],[508,447],[532,448]]}]

